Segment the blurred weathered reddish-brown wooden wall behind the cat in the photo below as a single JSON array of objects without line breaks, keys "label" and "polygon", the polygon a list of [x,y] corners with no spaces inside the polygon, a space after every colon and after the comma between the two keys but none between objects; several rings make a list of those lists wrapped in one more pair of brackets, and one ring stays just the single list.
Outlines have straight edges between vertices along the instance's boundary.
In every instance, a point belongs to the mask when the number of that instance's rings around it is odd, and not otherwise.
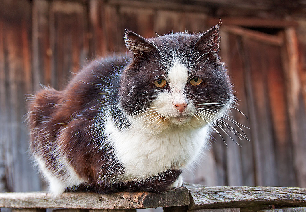
[{"label": "blurred weathered reddish-brown wooden wall behind the cat", "polygon": [[304,1],[0,0],[0,192],[45,189],[27,152],[26,94],[62,89],[91,58],[125,51],[125,29],[152,37],[220,20],[220,55],[248,119],[231,115],[250,141],[226,122],[185,181],[305,188],[305,14]]}]

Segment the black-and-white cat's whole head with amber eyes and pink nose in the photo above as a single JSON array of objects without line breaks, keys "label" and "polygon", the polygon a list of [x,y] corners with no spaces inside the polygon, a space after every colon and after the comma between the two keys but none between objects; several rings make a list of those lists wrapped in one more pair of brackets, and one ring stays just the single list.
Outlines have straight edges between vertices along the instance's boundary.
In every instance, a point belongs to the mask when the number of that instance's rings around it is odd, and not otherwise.
[{"label": "black-and-white cat's whole head with amber eyes and pink nose", "polygon": [[156,129],[198,128],[224,115],[233,102],[233,91],[219,61],[219,40],[219,25],[203,34],[150,39],[126,32],[133,59],[120,81],[122,109],[132,121]]}]

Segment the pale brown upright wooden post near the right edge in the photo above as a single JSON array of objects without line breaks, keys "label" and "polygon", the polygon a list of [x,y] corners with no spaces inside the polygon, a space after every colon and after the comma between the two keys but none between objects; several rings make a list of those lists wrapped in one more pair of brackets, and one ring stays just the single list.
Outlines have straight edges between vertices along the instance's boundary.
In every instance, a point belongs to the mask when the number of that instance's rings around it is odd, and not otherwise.
[{"label": "pale brown upright wooden post near the right edge", "polygon": [[306,106],[298,66],[298,44],[294,28],[285,30],[286,48],[283,49],[290,129],[293,145],[294,169],[297,186],[306,187]]}]

